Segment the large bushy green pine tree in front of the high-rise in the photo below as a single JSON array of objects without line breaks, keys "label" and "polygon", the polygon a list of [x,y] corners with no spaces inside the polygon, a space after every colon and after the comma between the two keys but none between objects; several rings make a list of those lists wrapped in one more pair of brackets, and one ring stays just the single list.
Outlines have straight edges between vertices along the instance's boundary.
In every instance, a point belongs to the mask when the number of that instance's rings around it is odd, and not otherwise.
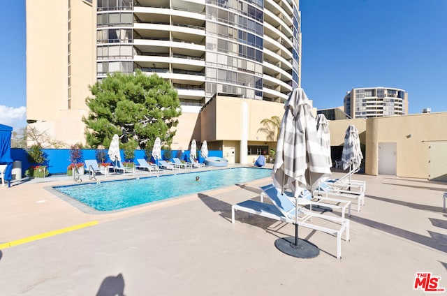
[{"label": "large bushy green pine tree in front of the high-rise", "polygon": [[124,149],[135,142],[145,149],[156,137],[172,143],[182,111],[177,91],[168,81],[141,71],[135,75],[113,73],[96,82],[90,91],[93,97],[86,99],[90,112],[82,119],[90,147],[108,147],[115,133]]}]

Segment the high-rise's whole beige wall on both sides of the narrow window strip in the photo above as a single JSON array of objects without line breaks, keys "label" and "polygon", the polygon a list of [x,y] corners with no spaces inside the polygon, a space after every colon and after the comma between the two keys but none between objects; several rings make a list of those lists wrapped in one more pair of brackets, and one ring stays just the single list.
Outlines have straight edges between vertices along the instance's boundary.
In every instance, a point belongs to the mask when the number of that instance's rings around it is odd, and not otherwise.
[{"label": "high-rise's whole beige wall on both sides of the narrow window strip", "polygon": [[81,119],[96,81],[96,12],[85,1],[71,1],[69,29],[68,0],[27,0],[26,8],[27,120],[64,147],[85,144]]}]

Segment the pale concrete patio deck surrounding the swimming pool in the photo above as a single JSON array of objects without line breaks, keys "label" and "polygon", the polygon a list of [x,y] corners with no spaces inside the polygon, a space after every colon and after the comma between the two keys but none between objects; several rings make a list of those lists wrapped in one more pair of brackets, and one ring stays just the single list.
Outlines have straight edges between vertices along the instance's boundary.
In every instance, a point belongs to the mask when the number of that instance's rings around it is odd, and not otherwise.
[{"label": "pale concrete patio deck surrounding the swimming pool", "polygon": [[342,260],[332,235],[300,228],[321,253],[298,259],[274,246],[293,225],[243,212],[231,223],[231,205],[258,200],[270,178],[110,214],[86,214],[45,189],[73,184],[68,177],[14,182],[0,187],[0,295],[423,295],[413,289],[418,272],[447,288],[447,184],[356,179],[367,196],[361,212],[353,207]]}]

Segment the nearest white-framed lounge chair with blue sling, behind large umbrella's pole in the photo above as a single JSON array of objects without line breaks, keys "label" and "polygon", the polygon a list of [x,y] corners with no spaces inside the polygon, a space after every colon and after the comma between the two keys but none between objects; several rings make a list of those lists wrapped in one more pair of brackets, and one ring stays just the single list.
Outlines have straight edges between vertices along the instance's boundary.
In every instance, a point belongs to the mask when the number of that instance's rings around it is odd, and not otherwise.
[{"label": "nearest white-framed lounge chair with blue sling, behind large umbrella's pole", "polygon": [[[237,205],[231,207],[231,221],[235,223],[235,210],[247,212],[249,214],[256,214],[259,216],[264,216],[270,219],[275,219],[279,221],[284,221],[286,223],[296,223],[299,226],[310,228],[322,232],[326,232],[330,235],[336,235],[337,237],[337,258],[342,258],[342,234],[345,232],[345,240],[349,242],[349,220],[342,219],[339,217],[328,216],[324,214],[315,214],[304,207],[299,207],[298,212],[300,213],[298,221],[295,221],[295,211],[297,208],[293,202],[288,198],[287,195],[281,194],[277,188],[273,185],[263,186],[263,194],[268,196],[272,201],[273,205],[255,200],[246,200],[240,202]],[[324,221],[330,221],[337,225],[337,228],[328,228],[323,225],[316,225],[315,220],[323,219]],[[312,221],[312,222],[311,222]]]}]

